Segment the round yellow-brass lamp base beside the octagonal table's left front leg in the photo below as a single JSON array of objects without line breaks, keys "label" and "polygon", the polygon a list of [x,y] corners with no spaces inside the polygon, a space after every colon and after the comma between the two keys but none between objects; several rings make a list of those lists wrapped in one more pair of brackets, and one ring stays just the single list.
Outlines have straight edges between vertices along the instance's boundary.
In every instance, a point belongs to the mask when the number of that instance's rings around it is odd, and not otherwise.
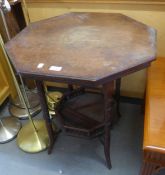
[{"label": "round yellow-brass lamp base beside the octagonal table's left front leg", "polygon": [[37,132],[30,122],[25,124],[17,136],[20,149],[28,153],[37,153],[45,150],[49,145],[49,136],[44,120],[34,120]]}]

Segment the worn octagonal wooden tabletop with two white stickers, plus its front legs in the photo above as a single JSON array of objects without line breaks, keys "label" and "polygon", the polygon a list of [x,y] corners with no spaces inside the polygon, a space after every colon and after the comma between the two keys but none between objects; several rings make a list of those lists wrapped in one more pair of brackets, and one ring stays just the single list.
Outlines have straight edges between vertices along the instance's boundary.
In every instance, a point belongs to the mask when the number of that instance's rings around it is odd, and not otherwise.
[{"label": "worn octagonal wooden tabletop with two white stickers, plus its front legs", "polygon": [[114,80],[149,66],[155,59],[155,40],[153,28],[122,14],[69,13],[32,23],[6,44],[16,72],[36,80],[50,138],[49,153],[54,135],[43,81],[101,85],[104,152],[107,166],[111,167]]}]

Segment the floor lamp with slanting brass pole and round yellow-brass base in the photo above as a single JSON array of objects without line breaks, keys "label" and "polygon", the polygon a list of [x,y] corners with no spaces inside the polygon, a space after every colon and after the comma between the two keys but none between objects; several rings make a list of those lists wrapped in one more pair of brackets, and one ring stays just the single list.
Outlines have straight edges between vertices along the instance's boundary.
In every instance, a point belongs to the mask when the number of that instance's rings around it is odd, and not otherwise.
[{"label": "floor lamp with slanting brass pole and round yellow-brass base", "polygon": [[[2,38],[1,38],[1,43]],[[44,120],[33,120],[30,114],[30,110],[28,108],[28,100],[27,94],[25,91],[24,83],[22,77],[19,76],[21,84],[23,86],[23,92],[19,86],[19,83],[15,77],[13,68],[10,64],[9,58],[5,52],[4,45],[2,44],[3,51],[5,53],[5,58],[8,63],[9,69],[11,71],[19,98],[21,103],[24,105],[24,108],[28,114],[29,122],[25,124],[19,131],[17,136],[17,144],[18,146],[25,152],[36,153],[45,150],[49,145],[49,137],[47,133],[47,129],[45,126]],[[17,120],[16,118],[14,118]],[[0,123],[1,124],[1,123]]]}]

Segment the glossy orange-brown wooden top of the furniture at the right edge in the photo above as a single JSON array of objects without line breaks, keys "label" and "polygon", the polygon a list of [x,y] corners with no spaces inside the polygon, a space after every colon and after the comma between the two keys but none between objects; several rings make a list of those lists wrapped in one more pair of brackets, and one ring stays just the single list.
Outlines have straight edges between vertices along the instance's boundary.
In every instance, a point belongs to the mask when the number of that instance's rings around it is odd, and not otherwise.
[{"label": "glossy orange-brown wooden top of the furniture at the right edge", "polygon": [[143,147],[165,153],[165,58],[148,70]]}]

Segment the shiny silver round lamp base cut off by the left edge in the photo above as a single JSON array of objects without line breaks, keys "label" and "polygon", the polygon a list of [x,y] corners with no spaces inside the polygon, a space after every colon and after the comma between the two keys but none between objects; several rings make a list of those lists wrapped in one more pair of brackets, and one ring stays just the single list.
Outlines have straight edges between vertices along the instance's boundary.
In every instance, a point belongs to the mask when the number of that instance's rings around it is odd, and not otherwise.
[{"label": "shiny silver round lamp base cut off by the left edge", "polygon": [[0,143],[6,143],[14,139],[21,128],[21,123],[14,117],[0,119]]}]

